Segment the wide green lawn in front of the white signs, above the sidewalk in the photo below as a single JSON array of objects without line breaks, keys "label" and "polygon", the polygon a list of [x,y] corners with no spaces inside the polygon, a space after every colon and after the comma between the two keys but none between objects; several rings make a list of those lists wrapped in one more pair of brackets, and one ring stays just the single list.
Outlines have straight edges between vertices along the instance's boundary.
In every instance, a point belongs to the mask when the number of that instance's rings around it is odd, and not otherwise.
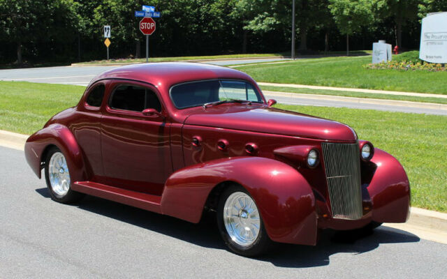
[{"label": "wide green lawn in front of the white signs, above the sidewalk", "polygon": [[257,82],[447,94],[447,72],[372,70],[371,56],[298,59],[237,66]]}]

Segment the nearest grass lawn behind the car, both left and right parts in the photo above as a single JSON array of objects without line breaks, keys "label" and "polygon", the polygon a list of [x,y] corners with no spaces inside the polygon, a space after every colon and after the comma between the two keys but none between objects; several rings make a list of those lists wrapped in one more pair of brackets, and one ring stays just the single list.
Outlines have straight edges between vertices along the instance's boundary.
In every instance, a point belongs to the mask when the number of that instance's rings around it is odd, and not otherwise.
[{"label": "nearest grass lawn behind the car, both left and right parts", "polygon": [[[0,129],[31,134],[78,103],[85,87],[0,82]],[[411,183],[413,206],[447,212],[447,116],[276,105],[350,125],[360,139],[395,156]]]}]

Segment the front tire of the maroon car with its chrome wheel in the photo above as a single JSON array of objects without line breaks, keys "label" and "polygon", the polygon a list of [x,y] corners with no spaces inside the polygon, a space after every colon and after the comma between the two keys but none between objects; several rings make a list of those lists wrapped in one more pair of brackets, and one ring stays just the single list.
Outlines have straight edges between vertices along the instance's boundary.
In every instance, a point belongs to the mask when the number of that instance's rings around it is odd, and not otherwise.
[{"label": "front tire of the maroon car with its chrome wheel", "polygon": [[217,225],[226,246],[238,255],[255,257],[271,247],[258,207],[242,186],[230,186],[223,191]]}]

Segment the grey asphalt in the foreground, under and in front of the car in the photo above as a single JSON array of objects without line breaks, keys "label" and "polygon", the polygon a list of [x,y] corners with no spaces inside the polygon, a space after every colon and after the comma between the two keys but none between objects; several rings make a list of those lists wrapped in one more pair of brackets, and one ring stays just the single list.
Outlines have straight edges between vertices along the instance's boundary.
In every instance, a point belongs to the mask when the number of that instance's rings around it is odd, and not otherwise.
[{"label": "grey asphalt in the foreground, under and in front of the car", "polygon": [[444,278],[447,245],[398,229],[325,232],[248,259],[198,225],[86,197],[53,202],[23,151],[0,146],[0,278]]}]

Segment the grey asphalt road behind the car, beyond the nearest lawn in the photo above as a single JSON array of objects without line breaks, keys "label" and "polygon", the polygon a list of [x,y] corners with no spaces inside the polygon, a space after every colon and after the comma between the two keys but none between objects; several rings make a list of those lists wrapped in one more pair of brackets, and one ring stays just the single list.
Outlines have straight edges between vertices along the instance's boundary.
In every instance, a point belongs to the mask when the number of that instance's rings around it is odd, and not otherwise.
[{"label": "grey asphalt road behind the car, beyond the nearest lawn", "polygon": [[[258,63],[267,61],[281,61],[286,59],[247,59],[247,60],[226,60],[207,61],[216,65],[234,65],[237,63]],[[47,68],[24,68],[0,70],[0,80],[15,80],[27,82],[43,82],[52,84],[74,84],[87,86],[90,80],[105,70],[116,68],[115,66],[86,66],[86,67],[47,67]],[[267,95],[267,98],[270,96]],[[272,97],[279,103],[290,105],[316,105],[325,107],[349,107],[364,110],[382,110],[390,112],[409,112],[418,114],[447,115],[446,110],[435,110],[419,107],[402,107],[396,105],[365,104],[349,101],[321,100],[319,98],[290,98],[282,96]]]}]

